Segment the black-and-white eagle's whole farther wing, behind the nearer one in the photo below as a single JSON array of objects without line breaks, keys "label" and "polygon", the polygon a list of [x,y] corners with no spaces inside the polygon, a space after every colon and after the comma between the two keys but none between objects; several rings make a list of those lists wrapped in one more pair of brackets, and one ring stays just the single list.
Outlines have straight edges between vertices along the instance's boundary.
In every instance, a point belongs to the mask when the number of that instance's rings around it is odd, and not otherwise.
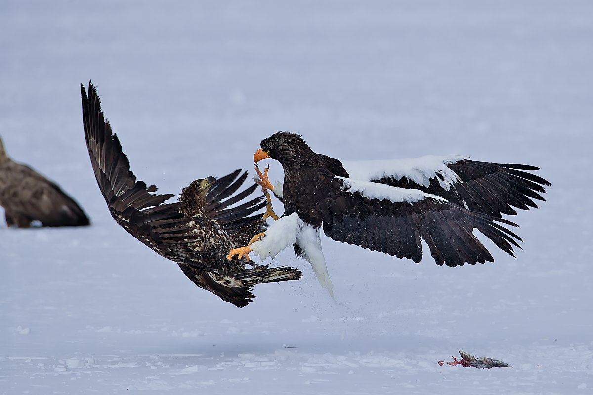
[{"label": "black-and-white eagle's whole farther wing, behind the nearer one", "polygon": [[534,200],[545,201],[541,194],[550,185],[531,173],[539,170],[534,166],[476,162],[457,155],[352,161],[343,166],[350,178],[417,189],[498,218],[517,214],[513,207],[537,208]]}]

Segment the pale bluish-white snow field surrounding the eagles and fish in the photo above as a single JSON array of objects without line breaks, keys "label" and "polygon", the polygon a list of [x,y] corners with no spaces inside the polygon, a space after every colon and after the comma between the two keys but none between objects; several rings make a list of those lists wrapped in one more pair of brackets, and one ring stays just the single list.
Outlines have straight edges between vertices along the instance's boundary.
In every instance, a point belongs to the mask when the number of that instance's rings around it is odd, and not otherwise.
[{"label": "pale bluish-white snow field surrounding the eagles and fish", "polygon": [[[0,2],[7,151],[93,221],[0,222],[0,393],[592,393],[592,65],[588,0]],[[165,193],[252,171],[278,130],[334,158],[467,155],[553,185],[509,218],[516,259],[490,245],[495,263],[448,268],[323,237],[336,303],[287,249],[276,263],[304,278],[238,309],[111,219],[90,79]],[[437,364],[459,349],[513,367]]]}]

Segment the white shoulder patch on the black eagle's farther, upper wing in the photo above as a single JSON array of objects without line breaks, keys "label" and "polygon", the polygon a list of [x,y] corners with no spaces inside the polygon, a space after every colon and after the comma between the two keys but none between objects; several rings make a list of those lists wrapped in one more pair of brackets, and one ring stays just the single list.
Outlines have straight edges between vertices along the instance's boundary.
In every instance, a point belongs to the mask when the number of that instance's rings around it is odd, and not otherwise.
[{"label": "white shoulder patch on the black eagle's farther, upper wing", "polygon": [[419,158],[391,160],[352,160],[342,165],[352,179],[371,181],[384,177],[394,179],[407,178],[416,184],[428,187],[431,178],[437,178],[445,190],[449,190],[455,182],[460,182],[457,174],[449,169],[450,165],[468,159],[461,155],[425,155]]}]

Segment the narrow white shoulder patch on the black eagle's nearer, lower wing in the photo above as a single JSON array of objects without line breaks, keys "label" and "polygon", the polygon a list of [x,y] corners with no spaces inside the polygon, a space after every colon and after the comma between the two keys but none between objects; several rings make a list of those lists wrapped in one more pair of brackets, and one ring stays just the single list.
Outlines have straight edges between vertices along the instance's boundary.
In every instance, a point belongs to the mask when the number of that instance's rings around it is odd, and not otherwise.
[{"label": "narrow white shoulder patch on the black eagle's nearer, lower wing", "polygon": [[342,190],[347,192],[359,192],[362,196],[379,201],[388,200],[391,203],[415,203],[425,198],[432,198],[446,202],[444,198],[427,194],[420,190],[410,190],[409,188],[391,187],[390,185],[379,184],[378,182],[359,181],[358,179],[344,178],[334,176],[344,181]]}]

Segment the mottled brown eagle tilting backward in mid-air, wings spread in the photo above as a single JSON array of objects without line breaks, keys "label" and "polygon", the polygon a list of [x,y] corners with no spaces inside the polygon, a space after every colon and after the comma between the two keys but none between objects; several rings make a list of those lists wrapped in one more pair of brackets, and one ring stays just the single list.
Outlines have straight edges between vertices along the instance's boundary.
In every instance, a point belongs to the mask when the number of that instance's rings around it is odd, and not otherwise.
[{"label": "mottled brown eagle tilting backward in mid-air, wings spread", "polygon": [[[95,87],[89,95],[81,85],[82,120],[88,153],[99,188],[111,216],[132,236],[159,255],[177,262],[198,287],[210,291],[238,307],[254,297],[253,285],[264,282],[298,280],[298,269],[270,268],[240,259],[227,259],[229,249],[247,243],[264,229],[262,197],[244,200],[257,188],[252,185],[234,196],[247,172],[232,172],[218,180],[197,179],[181,190],[177,203],[164,202],[173,194],[155,194],[130,171],[130,163],[116,134],[105,121]],[[246,268],[246,264],[253,265]]]}]

